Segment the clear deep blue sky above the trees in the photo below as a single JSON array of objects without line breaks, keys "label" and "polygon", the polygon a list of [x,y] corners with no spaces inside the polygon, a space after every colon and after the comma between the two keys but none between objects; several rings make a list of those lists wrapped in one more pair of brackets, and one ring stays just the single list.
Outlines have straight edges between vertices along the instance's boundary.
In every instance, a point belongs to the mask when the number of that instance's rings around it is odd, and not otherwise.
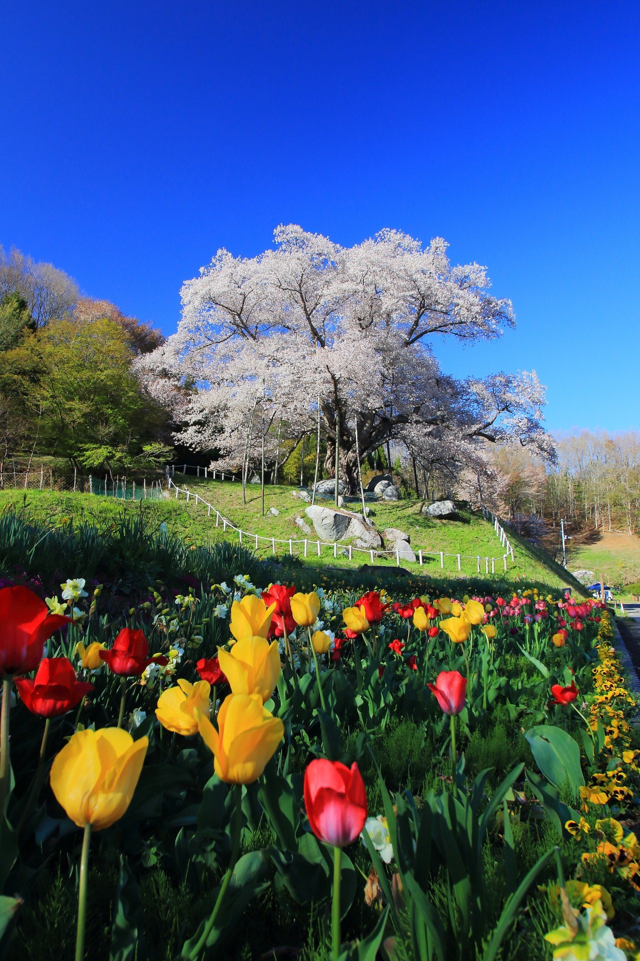
[{"label": "clear deep blue sky above the trees", "polygon": [[280,222],[488,267],[547,424],[640,428],[640,4],[4,0],[0,243],[176,329]]}]

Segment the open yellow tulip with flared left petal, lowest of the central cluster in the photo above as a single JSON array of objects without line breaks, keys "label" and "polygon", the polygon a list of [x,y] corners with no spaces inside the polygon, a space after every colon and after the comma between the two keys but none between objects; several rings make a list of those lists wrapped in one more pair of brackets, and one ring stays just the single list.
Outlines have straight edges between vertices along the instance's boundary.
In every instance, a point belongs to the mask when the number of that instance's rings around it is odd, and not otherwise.
[{"label": "open yellow tulip with flared left petal, lowest of the central cluster", "polygon": [[229,694],[218,711],[218,730],[196,709],[201,738],[213,753],[213,769],[227,784],[252,784],[284,737],[284,725],[258,694]]}]

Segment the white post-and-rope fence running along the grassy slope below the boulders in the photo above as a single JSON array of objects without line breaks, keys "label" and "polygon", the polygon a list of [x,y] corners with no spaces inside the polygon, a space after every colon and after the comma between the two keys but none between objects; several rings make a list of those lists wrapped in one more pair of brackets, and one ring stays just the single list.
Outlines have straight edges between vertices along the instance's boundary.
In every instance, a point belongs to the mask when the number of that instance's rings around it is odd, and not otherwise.
[{"label": "white post-and-rope fence running along the grassy slope below the boulders", "polygon": [[[193,501],[196,506],[203,505],[204,507],[207,508],[208,517],[211,517],[212,514],[215,514],[217,528],[219,528],[220,525],[222,524],[224,533],[226,533],[226,530],[235,530],[238,534],[239,543],[240,544],[251,543],[251,546],[253,546],[256,551],[259,548],[260,542],[264,541],[267,545],[271,547],[272,554],[275,554],[276,544],[286,545],[289,548],[289,554],[292,554],[292,555],[294,554],[294,545],[300,544],[302,545],[302,551],[305,557],[308,557],[309,552],[310,551],[313,552],[314,550],[317,552],[318,556],[320,557],[322,548],[329,547],[329,548],[333,548],[334,557],[338,556],[338,550],[340,549],[340,551],[343,554],[346,554],[346,556],[348,556],[349,560],[353,559],[353,554],[368,554],[371,564],[375,563],[376,557],[389,556],[390,558],[395,557],[395,563],[398,567],[400,567],[402,563],[417,563],[419,564],[420,567],[422,567],[424,564],[425,557],[439,557],[440,568],[444,569],[444,558],[455,557],[458,563],[459,571],[462,571],[462,560],[474,560],[476,562],[477,574],[483,573],[482,572],[483,566],[485,567],[485,572],[484,572],[485,574],[489,574],[489,573],[495,574],[496,560],[498,560],[498,562],[502,560],[503,567],[505,571],[507,570],[507,558],[509,554],[503,554],[502,557],[482,557],[480,554],[446,554],[444,551],[419,550],[417,552],[417,559],[415,561],[410,561],[406,557],[400,556],[400,549],[398,547],[396,547],[394,550],[389,550],[389,551],[381,551],[381,550],[374,550],[374,549],[369,550],[367,548],[362,548],[362,547],[353,547],[351,544],[342,544],[339,541],[321,541],[321,540],[313,540],[313,539],[310,540],[307,537],[305,537],[304,539],[297,539],[292,537],[288,539],[284,539],[281,537],[265,537],[262,534],[253,534],[253,533],[250,533],[249,530],[242,530],[241,528],[236,527],[235,524],[232,524],[231,521],[229,521],[226,517],[224,517],[216,507],[209,504],[208,501],[205,501],[204,498],[200,496],[200,494],[194,493],[193,491],[190,491],[190,490],[186,490],[183,487],[178,487],[178,485],[173,480],[171,480],[170,477],[167,478],[167,484],[168,484],[167,489],[170,490],[173,487],[173,489],[176,491],[177,500],[180,494],[184,494],[186,497],[187,504]],[[243,541],[243,537],[245,538],[245,541]],[[512,549],[510,551],[510,554],[511,554],[511,560],[512,560],[513,559]],[[489,565],[491,568],[490,572],[489,572]]]}]

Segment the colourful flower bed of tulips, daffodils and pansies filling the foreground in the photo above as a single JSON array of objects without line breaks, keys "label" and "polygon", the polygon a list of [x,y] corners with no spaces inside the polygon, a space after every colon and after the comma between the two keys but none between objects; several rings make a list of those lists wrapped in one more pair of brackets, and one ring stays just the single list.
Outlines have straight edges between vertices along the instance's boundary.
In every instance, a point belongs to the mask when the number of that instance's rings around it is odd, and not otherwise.
[{"label": "colourful flower bed of tulips, daffodils and pansies filling the foreground", "polygon": [[0,590],[7,957],[637,955],[602,604],[86,587]]}]

